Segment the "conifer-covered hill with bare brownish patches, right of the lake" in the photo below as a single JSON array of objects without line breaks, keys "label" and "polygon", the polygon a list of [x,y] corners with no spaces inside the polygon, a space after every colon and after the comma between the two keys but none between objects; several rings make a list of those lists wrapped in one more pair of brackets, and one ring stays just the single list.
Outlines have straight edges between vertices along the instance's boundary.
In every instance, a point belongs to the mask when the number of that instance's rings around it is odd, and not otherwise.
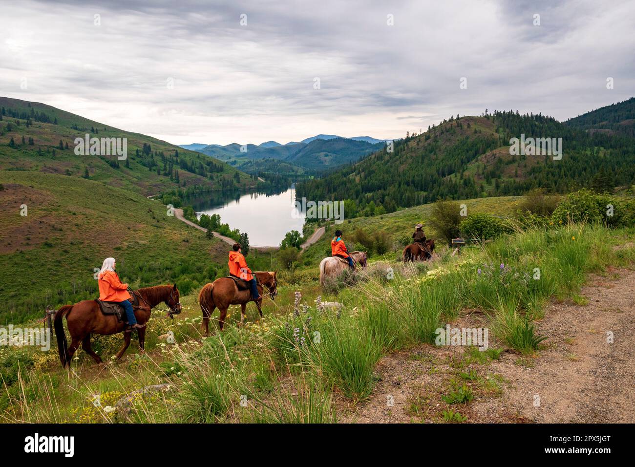
[{"label": "conifer-covered hill with bare brownish patches, right of the lake", "polygon": [[[510,152],[510,140],[562,139],[563,157]],[[394,142],[363,161],[297,186],[311,200],[351,200],[348,216],[392,212],[438,198],[516,196],[541,187],[565,193],[631,186],[635,140],[585,132],[541,114],[486,110],[481,117],[452,117],[420,135]]]}]

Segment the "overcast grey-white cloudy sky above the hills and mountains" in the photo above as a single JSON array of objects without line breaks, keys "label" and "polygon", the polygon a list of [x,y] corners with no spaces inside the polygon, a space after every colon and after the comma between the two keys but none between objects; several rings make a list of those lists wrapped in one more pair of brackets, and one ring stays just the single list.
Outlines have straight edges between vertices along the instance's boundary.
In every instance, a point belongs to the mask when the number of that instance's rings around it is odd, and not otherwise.
[{"label": "overcast grey-white cloudy sky above the hills and mountains", "polygon": [[389,139],[635,95],[635,4],[552,3],[0,0],[0,95],[174,144]]}]

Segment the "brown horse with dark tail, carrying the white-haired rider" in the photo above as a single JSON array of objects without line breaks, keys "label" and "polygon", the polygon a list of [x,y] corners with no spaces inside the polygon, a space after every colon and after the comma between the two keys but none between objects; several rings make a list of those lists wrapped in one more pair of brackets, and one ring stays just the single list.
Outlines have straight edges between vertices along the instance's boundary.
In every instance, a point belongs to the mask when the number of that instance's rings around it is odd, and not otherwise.
[{"label": "brown horse with dark tail, carrying the white-haired rider", "polygon": [[[150,319],[152,308],[161,302],[170,308],[169,316],[181,313],[181,304],[178,300],[177,285],[157,285],[157,287],[146,287],[135,290],[139,306],[135,307],[135,318],[139,324],[147,323]],[[67,327],[70,334],[70,346],[67,348],[66,334],[64,333],[64,321],[66,316]],[[57,348],[60,353],[60,362],[63,367],[70,368],[70,360],[75,351],[82,343],[82,348],[93,357],[95,362],[102,363],[102,359],[90,347],[91,334],[118,334],[123,332],[125,323],[120,323],[114,315],[104,315],[96,300],[84,300],[74,305],[65,305],[58,309],[53,318],[55,326],[55,337]],[[143,350],[145,346],[145,327],[137,330],[139,337],[139,347]],[[130,345],[132,332],[124,333],[124,344],[117,353],[117,360]]]}]

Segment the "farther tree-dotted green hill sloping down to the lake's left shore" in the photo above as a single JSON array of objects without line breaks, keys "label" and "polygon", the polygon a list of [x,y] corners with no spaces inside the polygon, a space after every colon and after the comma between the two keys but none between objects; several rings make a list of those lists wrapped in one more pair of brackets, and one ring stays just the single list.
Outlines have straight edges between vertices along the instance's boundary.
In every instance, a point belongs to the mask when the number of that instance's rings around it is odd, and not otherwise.
[{"label": "farther tree-dotted green hill sloping down to the lake's left shore", "polygon": [[[149,196],[176,187],[254,187],[257,179],[218,159],[130,133],[39,102],[0,97],[0,170],[90,177]],[[128,158],[83,156],[75,139],[126,138]],[[13,143],[11,143],[13,140]]]}]

